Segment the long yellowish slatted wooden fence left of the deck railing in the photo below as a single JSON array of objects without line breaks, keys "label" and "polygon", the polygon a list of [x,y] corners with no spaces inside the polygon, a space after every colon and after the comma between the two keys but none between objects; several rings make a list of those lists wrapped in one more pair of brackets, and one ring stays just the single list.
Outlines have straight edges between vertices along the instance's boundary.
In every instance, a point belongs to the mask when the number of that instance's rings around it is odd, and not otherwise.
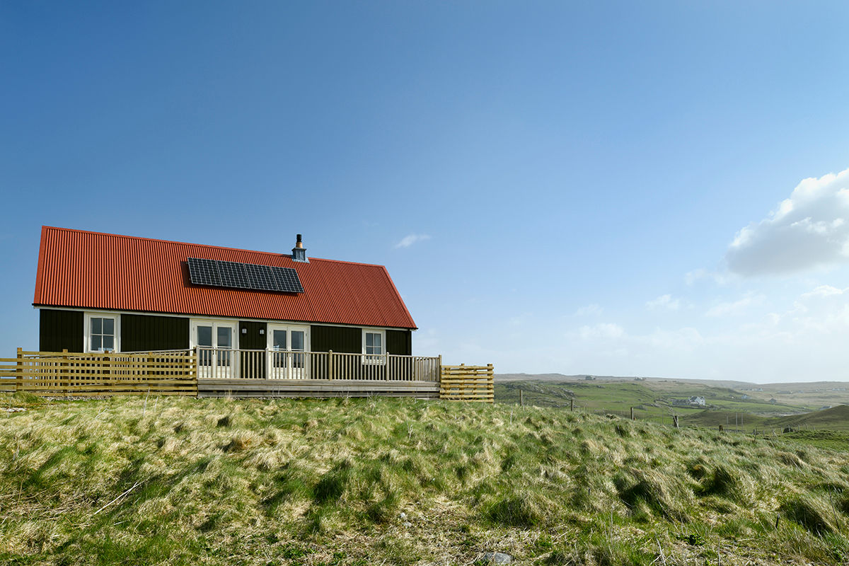
[{"label": "long yellowish slatted wooden fence left of the deck railing", "polygon": [[0,390],[35,395],[197,395],[191,350],[88,354],[25,352],[0,358]]}]

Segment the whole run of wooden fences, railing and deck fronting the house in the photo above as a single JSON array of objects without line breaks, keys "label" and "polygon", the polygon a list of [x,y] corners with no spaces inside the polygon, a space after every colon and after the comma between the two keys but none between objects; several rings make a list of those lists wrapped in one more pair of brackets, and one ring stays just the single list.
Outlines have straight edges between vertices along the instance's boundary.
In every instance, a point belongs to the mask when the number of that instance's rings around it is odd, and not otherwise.
[{"label": "whole run of wooden fences, railing and deck fronting the house", "polygon": [[492,364],[441,356],[278,350],[25,352],[0,358],[0,390],[47,396],[416,397],[492,403]]}]

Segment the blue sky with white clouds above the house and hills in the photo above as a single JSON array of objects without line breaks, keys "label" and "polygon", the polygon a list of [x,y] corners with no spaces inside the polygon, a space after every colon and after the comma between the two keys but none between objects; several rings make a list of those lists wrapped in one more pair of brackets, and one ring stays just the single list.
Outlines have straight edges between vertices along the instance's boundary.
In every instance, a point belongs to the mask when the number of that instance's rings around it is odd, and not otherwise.
[{"label": "blue sky with white clouds above the house and hills", "polygon": [[0,7],[0,350],[42,225],[302,233],[449,362],[847,378],[849,4],[120,4]]}]

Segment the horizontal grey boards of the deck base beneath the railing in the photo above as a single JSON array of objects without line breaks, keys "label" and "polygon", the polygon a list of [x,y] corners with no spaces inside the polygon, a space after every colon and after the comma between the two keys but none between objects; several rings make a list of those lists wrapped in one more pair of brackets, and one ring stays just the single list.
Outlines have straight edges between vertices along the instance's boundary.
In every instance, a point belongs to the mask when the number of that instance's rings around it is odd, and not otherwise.
[{"label": "horizontal grey boards of the deck base beneath the railing", "polygon": [[198,379],[199,397],[417,397],[439,399],[439,382],[384,379]]}]

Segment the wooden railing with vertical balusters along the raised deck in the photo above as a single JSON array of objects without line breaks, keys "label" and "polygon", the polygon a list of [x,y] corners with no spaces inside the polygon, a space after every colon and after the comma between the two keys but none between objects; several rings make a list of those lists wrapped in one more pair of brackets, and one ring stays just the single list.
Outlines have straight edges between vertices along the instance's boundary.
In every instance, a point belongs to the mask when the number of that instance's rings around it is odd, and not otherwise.
[{"label": "wooden railing with vertical balusters along the raised deck", "polygon": [[347,354],[334,351],[196,348],[198,378],[357,379],[430,381],[440,378],[440,356]]}]

